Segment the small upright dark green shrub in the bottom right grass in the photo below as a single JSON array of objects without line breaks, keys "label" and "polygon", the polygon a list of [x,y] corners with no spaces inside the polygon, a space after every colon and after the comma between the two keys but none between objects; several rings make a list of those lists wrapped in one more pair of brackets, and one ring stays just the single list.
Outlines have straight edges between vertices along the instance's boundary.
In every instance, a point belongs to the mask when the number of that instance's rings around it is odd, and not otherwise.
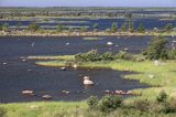
[{"label": "small upright dark green shrub in the bottom right grass", "polygon": [[162,91],[156,97],[157,103],[166,103],[168,95]]}]

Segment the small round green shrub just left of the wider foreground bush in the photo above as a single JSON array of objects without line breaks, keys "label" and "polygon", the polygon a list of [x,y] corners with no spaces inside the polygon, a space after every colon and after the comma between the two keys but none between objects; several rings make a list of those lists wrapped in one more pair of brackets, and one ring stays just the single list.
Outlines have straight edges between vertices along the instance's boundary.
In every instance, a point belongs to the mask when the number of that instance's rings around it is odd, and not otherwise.
[{"label": "small round green shrub just left of the wider foreground bush", "polygon": [[87,104],[89,105],[90,108],[96,108],[98,105],[98,97],[97,96],[90,96],[87,100]]}]

